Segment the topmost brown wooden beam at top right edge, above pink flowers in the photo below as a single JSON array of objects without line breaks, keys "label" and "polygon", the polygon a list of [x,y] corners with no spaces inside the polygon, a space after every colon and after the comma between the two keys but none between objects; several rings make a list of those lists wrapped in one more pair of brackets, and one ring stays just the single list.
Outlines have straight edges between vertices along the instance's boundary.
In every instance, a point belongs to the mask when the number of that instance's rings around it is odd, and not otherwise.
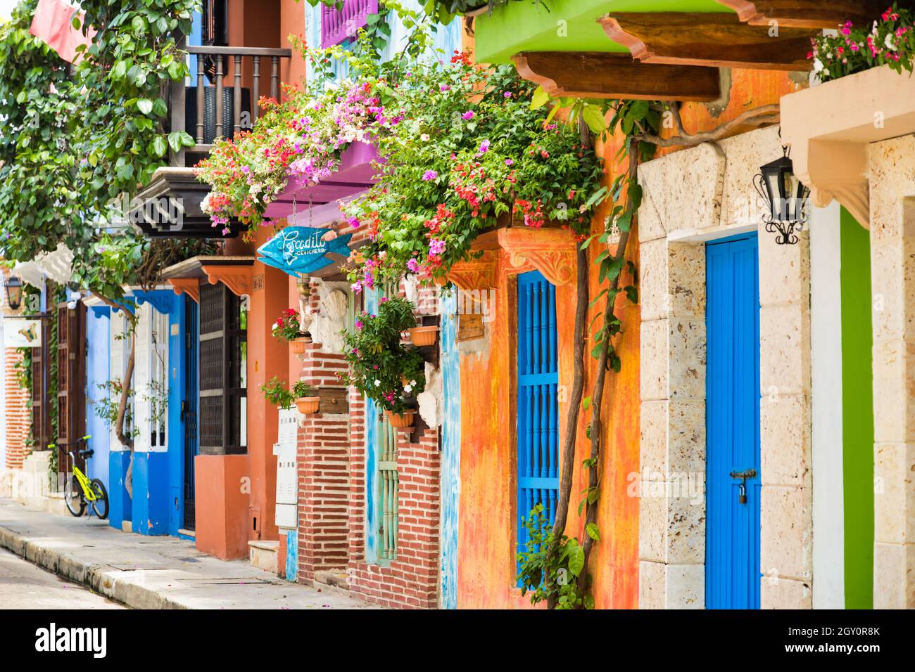
[{"label": "topmost brown wooden beam at top right edge, above pink flowers", "polygon": [[[845,21],[867,26],[886,11],[890,0],[717,0],[752,26],[835,28]],[[900,3],[899,6],[904,5]]]}]

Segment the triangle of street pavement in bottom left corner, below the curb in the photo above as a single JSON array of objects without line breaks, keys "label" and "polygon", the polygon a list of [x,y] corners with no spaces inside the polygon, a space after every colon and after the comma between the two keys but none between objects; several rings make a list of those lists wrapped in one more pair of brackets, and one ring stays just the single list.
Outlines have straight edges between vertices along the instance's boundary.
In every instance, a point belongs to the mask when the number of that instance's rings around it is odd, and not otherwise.
[{"label": "triangle of street pavement in bottom left corner, below the curb", "polygon": [[125,609],[0,549],[0,609]]}]

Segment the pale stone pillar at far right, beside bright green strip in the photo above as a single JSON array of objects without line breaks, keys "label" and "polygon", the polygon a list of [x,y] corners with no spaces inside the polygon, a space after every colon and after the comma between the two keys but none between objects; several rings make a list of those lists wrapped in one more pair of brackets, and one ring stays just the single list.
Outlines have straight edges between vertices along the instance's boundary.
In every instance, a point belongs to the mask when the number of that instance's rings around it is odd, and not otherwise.
[{"label": "pale stone pillar at far right, beside bright green strip", "polygon": [[874,608],[915,608],[915,136],[868,146]]}]

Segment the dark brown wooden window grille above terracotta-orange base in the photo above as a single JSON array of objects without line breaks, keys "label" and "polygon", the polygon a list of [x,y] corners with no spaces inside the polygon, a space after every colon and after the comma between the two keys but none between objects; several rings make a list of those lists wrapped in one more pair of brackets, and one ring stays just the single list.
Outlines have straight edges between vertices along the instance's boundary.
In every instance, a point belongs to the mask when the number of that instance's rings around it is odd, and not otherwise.
[{"label": "dark brown wooden window grille above terracotta-orange base", "polygon": [[222,283],[200,285],[199,452],[247,452],[246,320]]}]

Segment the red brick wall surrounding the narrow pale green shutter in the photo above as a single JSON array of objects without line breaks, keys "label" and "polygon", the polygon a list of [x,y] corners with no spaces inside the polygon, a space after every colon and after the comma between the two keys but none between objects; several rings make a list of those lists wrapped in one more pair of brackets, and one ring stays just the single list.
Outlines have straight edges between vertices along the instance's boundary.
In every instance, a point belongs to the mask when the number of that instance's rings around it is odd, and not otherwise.
[{"label": "red brick wall surrounding the narrow pale green shutter", "polygon": [[[350,465],[353,472],[364,474],[364,454]],[[352,554],[360,546],[364,549],[365,530],[364,525],[350,526],[350,591],[385,606],[433,609],[438,605],[440,515],[436,430],[426,430],[415,443],[411,443],[409,431],[398,431],[397,473],[397,559],[389,565],[375,565],[365,562],[364,552]],[[352,488],[351,493],[350,520],[357,503],[364,513],[364,485],[358,493]],[[360,541],[354,542],[353,536]]]}]

